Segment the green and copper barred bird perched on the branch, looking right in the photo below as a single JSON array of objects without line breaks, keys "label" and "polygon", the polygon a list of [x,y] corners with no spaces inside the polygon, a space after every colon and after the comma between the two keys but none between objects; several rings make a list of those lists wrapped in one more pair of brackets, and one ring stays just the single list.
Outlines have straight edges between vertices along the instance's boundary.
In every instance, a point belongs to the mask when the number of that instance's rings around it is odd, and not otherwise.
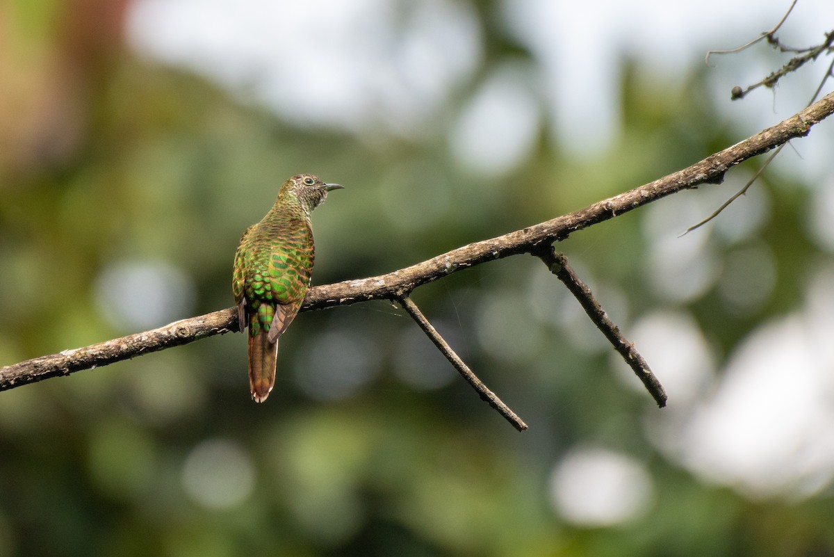
[{"label": "green and copper barred bird perched on the branch, looking right", "polygon": [[249,328],[249,390],[255,402],[264,402],[274,387],[279,337],[309,288],[315,255],[310,213],[340,188],[314,174],[289,178],[234,253],[232,294],[240,331]]}]

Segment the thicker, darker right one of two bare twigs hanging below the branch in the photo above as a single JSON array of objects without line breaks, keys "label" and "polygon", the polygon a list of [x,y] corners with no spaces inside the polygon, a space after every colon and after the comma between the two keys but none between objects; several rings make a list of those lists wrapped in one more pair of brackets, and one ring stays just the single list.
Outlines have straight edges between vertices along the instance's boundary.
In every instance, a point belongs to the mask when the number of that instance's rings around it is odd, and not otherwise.
[{"label": "thicker, darker right one of two bare twigs hanging below the branch", "polygon": [[661,385],[661,382],[656,378],[655,374],[652,373],[649,364],[646,363],[646,359],[637,352],[634,344],[631,344],[625,339],[623,334],[620,333],[620,329],[611,322],[608,314],[605,314],[600,303],[594,298],[590,287],[582,282],[582,279],[570,268],[565,255],[563,253],[557,253],[552,246],[546,249],[542,248],[535,252],[534,255],[540,258],[547,265],[547,268],[550,269],[550,272],[555,274],[565,284],[565,287],[570,290],[570,294],[573,294],[575,299],[579,301],[582,309],[585,309],[585,314],[588,314],[588,317],[594,322],[596,328],[600,329],[614,349],[625,359],[625,363],[631,366],[637,378],[646,385],[646,389],[651,394],[651,397],[655,399],[657,405],[660,408],[666,406],[666,391],[663,389],[663,385]]}]

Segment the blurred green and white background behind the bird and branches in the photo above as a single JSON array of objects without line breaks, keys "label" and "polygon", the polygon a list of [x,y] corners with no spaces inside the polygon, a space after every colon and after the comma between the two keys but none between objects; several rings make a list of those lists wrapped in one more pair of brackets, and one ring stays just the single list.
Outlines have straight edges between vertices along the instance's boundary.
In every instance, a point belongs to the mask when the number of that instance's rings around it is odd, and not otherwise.
[{"label": "blurred green and white background behind the bird and branches", "polygon": [[[3,0],[0,364],[232,305],[299,172],[315,284],[636,187],[811,98],[787,2]],[[779,33],[834,26],[803,0]],[[831,91],[831,83],[824,93]],[[656,409],[538,260],[401,309],[301,314],[249,400],[240,334],[0,393],[0,555],[834,555],[834,128],[558,248],[666,385]]]}]

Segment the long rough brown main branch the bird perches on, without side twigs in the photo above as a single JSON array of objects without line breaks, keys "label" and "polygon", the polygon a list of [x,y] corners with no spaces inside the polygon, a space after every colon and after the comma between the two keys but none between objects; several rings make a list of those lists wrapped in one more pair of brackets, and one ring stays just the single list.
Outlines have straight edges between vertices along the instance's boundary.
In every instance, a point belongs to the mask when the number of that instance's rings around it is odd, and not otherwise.
[{"label": "long rough brown main branch the bird perches on, without side twigs", "polygon": [[[834,113],[834,93],[826,95],[791,118],[712,154],[688,168],[574,213],[567,213],[497,238],[470,243],[392,273],[309,289],[302,311],[356,304],[371,299],[399,300],[421,284],[430,283],[463,268],[517,253],[533,253],[540,246],[567,238],[570,233],[627,213],[672,193],[697,188],[701,184],[721,183],[728,169],[748,158],[766,153],[792,138],[807,135],[813,125],[831,113]],[[237,330],[237,313],[234,308],[183,319],[160,329],[8,365],[0,369],[0,390],[71,374],[81,369],[112,364],[133,356]]]}]

